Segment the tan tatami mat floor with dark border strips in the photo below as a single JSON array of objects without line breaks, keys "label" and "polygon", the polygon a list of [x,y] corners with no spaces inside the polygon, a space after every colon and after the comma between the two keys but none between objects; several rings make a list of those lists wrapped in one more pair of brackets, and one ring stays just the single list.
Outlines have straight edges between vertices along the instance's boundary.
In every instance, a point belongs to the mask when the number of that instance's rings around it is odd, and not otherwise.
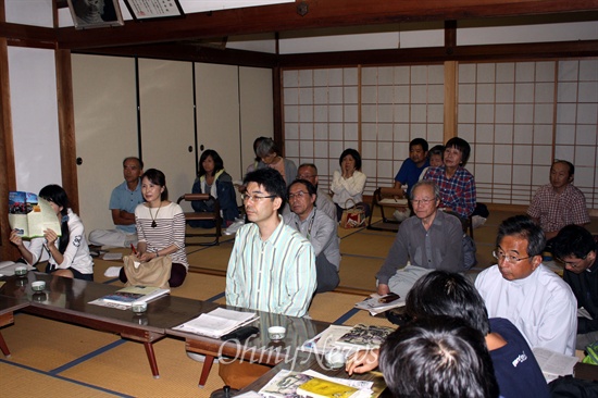
[{"label": "tan tatami mat floor with dark border strips", "polygon": [[[493,212],[485,225],[475,229],[479,271],[493,263],[498,224],[512,215]],[[598,224],[593,221],[593,227]],[[594,229],[591,229],[594,231]],[[339,229],[342,262],[341,286],[352,294],[338,291],[315,296],[310,315],[336,324],[367,323],[389,325],[384,316],[370,316],[353,304],[375,289],[375,273],[395,238],[391,232],[365,228]],[[199,238],[197,238],[199,240]],[[191,264],[188,279],[172,294],[224,303],[225,272],[233,237],[223,237],[216,247],[188,246]],[[113,250],[128,253],[128,250]],[[96,261],[96,281],[122,286],[103,276],[119,261]],[[207,274],[204,271],[209,271]],[[204,388],[197,382],[201,364],[187,358],[184,341],[164,338],[154,344],[161,377],[151,376],[141,344],[116,335],[17,313],[13,325],[1,329],[12,357],[0,357],[0,386],[14,397],[209,397],[222,387],[217,364]]]}]

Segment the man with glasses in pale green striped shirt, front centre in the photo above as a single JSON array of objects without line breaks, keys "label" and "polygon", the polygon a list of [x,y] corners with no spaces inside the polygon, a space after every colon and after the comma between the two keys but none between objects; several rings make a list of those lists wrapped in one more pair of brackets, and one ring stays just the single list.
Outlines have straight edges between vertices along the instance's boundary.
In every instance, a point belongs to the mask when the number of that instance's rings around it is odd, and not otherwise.
[{"label": "man with glasses in pale green striped shirt, front centre", "polygon": [[278,214],[286,184],[274,169],[245,176],[242,201],[251,223],[237,232],[226,272],[226,303],[290,316],[308,312],[315,290],[312,245]]}]

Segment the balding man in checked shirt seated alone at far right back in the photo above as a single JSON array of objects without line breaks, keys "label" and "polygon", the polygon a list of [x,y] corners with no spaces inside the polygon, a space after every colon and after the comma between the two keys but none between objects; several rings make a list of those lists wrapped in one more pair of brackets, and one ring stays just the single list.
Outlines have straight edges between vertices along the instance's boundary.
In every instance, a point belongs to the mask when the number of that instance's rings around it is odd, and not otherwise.
[{"label": "balding man in checked shirt seated alone at far right back", "polygon": [[527,214],[544,229],[548,240],[565,225],[589,223],[586,198],[571,184],[574,174],[575,166],[571,162],[555,161],[550,167],[550,184],[538,188],[527,209]]}]

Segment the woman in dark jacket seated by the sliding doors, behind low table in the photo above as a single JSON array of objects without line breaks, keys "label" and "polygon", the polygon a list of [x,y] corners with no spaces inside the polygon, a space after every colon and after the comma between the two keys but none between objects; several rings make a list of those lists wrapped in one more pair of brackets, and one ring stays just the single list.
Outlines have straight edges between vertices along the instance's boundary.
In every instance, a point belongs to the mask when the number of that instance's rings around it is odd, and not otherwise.
[{"label": "woman in dark jacket seated by the sliding doors, behind low table", "polygon": [[[199,173],[191,188],[192,194],[210,194],[220,202],[221,216],[226,226],[229,226],[239,216],[237,196],[233,186],[233,178],[224,171],[224,163],[220,154],[212,149],[207,149],[199,158]],[[214,202],[191,201],[196,212],[213,212]],[[212,220],[197,220],[188,222],[192,227],[213,228]]]}]

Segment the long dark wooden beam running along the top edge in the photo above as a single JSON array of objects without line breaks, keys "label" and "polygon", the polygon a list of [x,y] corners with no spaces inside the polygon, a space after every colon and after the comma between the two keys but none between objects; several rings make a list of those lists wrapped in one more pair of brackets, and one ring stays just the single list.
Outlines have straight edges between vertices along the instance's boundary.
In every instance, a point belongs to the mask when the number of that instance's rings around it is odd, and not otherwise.
[{"label": "long dark wooden beam running along the top edge", "polygon": [[[301,16],[299,4],[307,4]],[[598,0],[297,0],[295,3],[188,14],[183,18],[126,21],[125,26],[58,29],[62,49],[130,46],[324,27],[418,21],[460,21],[598,10]]]}]

